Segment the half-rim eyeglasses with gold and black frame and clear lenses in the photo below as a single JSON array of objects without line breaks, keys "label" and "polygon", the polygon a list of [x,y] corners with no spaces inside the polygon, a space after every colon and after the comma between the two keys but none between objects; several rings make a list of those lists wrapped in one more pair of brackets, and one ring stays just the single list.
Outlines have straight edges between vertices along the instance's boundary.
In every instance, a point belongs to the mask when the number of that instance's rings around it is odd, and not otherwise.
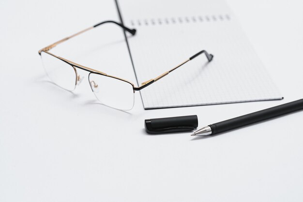
[{"label": "half-rim eyeglasses with gold and black frame and clear lenses", "polygon": [[124,31],[129,32],[132,35],[136,34],[136,29],[129,29],[115,21],[104,21],[42,48],[39,50],[39,55],[42,58],[46,74],[53,83],[66,90],[73,91],[81,80],[77,73],[77,68],[79,68],[89,72],[91,90],[102,104],[120,110],[131,110],[134,106],[134,95],[136,91],[150,86],[152,83],[163,78],[168,73],[176,70],[189,60],[192,60],[203,53],[209,62],[212,61],[212,54],[208,54],[207,51],[202,50],[167,72],[143,82],[139,87],[135,87],[135,85],[130,81],[77,64],[76,62],[61,58],[49,52],[50,49],[54,48],[58,44],[105,23],[114,23],[120,26]]}]

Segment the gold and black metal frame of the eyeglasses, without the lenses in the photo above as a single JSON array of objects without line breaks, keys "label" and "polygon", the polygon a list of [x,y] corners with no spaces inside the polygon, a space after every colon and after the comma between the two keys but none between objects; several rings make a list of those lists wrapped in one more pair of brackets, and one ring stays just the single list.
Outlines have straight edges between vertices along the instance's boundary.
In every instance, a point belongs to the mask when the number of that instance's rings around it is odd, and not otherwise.
[{"label": "gold and black metal frame of the eyeglasses, without the lenses", "polygon": [[111,21],[111,20],[110,20],[110,21],[104,21],[104,22],[98,23],[98,24],[96,24],[96,25],[94,25],[94,26],[92,26],[92,27],[89,27],[89,28],[87,28],[87,29],[83,29],[83,30],[77,32],[76,34],[73,34],[73,35],[71,35],[71,36],[65,37],[65,38],[63,38],[63,39],[61,39],[61,40],[59,40],[59,41],[57,41],[57,42],[55,42],[55,43],[52,43],[52,44],[50,44],[50,45],[48,45],[48,46],[46,46],[46,47],[40,49],[40,50],[38,51],[38,53],[39,53],[39,55],[41,56],[41,53],[42,53],[42,52],[45,52],[46,54],[49,54],[49,55],[51,55],[51,56],[53,56],[53,57],[55,57],[55,58],[58,58],[58,59],[60,59],[60,60],[62,60],[62,61],[64,61],[64,62],[70,64],[70,65],[74,68],[74,70],[75,70],[75,72],[76,72],[76,85],[77,85],[77,82],[79,81],[79,78],[78,78],[78,74],[77,74],[76,68],[79,68],[79,69],[82,69],[82,70],[85,70],[85,71],[88,71],[88,72],[91,72],[91,73],[101,74],[101,75],[103,75],[103,76],[108,76],[108,77],[111,77],[111,78],[114,78],[114,79],[119,79],[119,80],[121,80],[121,81],[127,82],[127,83],[129,83],[129,84],[131,84],[131,85],[133,86],[134,93],[135,93],[135,91],[138,91],[138,90],[141,90],[141,89],[143,89],[143,88],[145,88],[145,87],[148,87],[148,86],[151,85],[152,83],[158,81],[159,79],[161,79],[161,78],[163,78],[164,76],[166,76],[168,73],[170,73],[170,72],[176,70],[177,68],[179,68],[180,66],[182,66],[183,64],[185,64],[186,62],[188,62],[189,60],[192,60],[192,59],[196,58],[198,55],[200,55],[200,54],[202,54],[202,53],[205,53],[205,56],[207,57],[207,59],[208,59],[209,62],[212,61],[213,55],[212,55],[212,54],[208,54],[207,51],[205,51],[205,50],[202,50],[202,51],[198,52],[197,54],[195,54],[194,56],[192,56],[192,57],[186,59],[184,62],[180,63],[179,65],[175,66],[174,68],[168,70],[167,72],[164,72],[164,73],[162,73],[161,75],[159,75],[159,76],[157,76],[157,77],[155,77],[155,78],[153,78],[153,79],[150,79],[150,80],[148,80],[148,81],[143,82],[143,83],[141,84],[141,86],[135,87],[135,85],[134,85],[132,82],[130,82],[130,81],[126,80],[126,79],[122,79],[122,78],[119,78],[119,77],[117,77],[117,76],[112,76],[112,75],[106,74],[105,72],[100,72],[100,71],[98,71],[98,70],[95,70],[95,69],[92,69],[92,68],[89,68],[89,67],[86,67],[86,66],[77,64],[76,62],[70,61],[70,60],[65,59],[65,58],[62,58],[62,57],[60,57],[60,56],[56,56],[55,54],[49,52],[49,50],[51,50],[52,48],[54,48],[54,47],[57,46],[58,44],[63,43],[63,42],[65,42],[65,41],[67,41],[67,40],[69,40],[69,39],[71,39],[71,38],[73,38],[73,37],[75,37],[75,36],[77,36],[77,35],[79,35],[79,34],[82,34],[82,33],[86,32],[86,31],[88,31],[88,30],[91,30],[91,29],[93,29],[93,28],[95,28],[95,27],[98,27],[98,26],[100,26],[100,25],[102,25],[102,24],[105,24],[105,23],[114,23],[114,24],[120,26],[122,29],[124,29],[124,31],[127,31],[127,32],[131,33],[132,35],[135,35],[135,34],[136,34],[136,29],[129,29],[129,28],[127,28],[127,27],[124,27],[121,23],[118,23],[118,22],[115,22],[115,21]]}]

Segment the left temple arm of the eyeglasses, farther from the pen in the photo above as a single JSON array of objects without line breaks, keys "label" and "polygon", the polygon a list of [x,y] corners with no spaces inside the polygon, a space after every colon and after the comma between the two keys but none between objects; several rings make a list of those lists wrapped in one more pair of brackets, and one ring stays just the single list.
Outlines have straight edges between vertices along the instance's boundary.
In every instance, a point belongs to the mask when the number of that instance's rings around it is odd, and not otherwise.
[{"label": "left temple arm of the eyeglasses, farther from the pen", "polygon": [[90,29],[96,28],[96,27],[98,27],[98,26],[100,26],[100,25],[103,25],[103,24],[105,24],[105,23],[114,23],[114,24],[120,26],[120,27],[121,27],[122,29],[124,29],[125,31],[131,33],[132,35],[135,35],[135,34],[136,34],[136,29],[129,29],[129,28],[123,26],[121,23],[118,23],[118,22],[115,22],[115,21],[112,21],[112,20],[108,20],[108,21],[100,22],[100,23],[98,23],[98,24],[96,24],[96,25],[94,25],[94,26],[92,26],[92,27],[87,28],[87,29],[83,29],[83,30],[77,32],[76,34],[73,34],[73,35],[71,35],[71,36],[65,37],[64,39],[61,39],[61,40],[59,40],[58,42],[52,43],[52,44],[46,46],[45,48],[42,48],[41,50],[39,50],[39,55],[41,55],[41,52],[42,52],[42,51],[49,51],[50,49],[54,48],[54,47],[55,47],[56,45],[58,45],[59,43],[65,42],[66,40],[68,40],[68,39],[70,39],[70,38],[73,38],[73,37],[75,37],[75,36],[77,36],[77,35],[79,35],[79,34],[82,34],[83,32],[86,32],[86,31],[88,31],[88,30],[90,30]]}]

